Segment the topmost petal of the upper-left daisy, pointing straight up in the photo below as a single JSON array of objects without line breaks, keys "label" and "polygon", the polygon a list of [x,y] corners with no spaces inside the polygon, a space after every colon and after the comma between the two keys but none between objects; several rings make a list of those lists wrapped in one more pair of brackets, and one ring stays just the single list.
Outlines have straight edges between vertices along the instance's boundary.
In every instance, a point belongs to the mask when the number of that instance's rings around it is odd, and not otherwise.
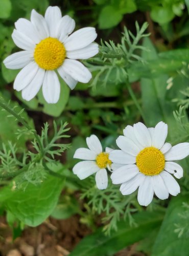
[{"label": "topmost petal of the upper-left daisy, pointing straight up", "polygon": [[44,18],[49,28],[50,37],[57,37],[58,24],[62,18],[62,14],[58,6],[49,6],[46,9]]}]

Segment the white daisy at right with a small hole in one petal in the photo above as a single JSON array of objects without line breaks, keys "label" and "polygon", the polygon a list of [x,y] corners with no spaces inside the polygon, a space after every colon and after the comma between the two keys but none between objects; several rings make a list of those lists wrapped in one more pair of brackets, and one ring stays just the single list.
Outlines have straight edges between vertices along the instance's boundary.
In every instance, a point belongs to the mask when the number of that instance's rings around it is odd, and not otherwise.
[{"label": "white daisy at right with a small hole in one petal", "polygon": [[167,199],[169,194],[176,196],[180,187],[173,178],[183,176],[182,167],[172,160],[180,160],[189,155],[189,143],[179,143],[172,147],[165,142],[168,125],[159,122],[155,128],[147,128],[143,123],[127,125],[124,136],[116,140],[121,150],[110,152],[113,184],[122,184],[120,191],[123,195],[133,193],[138,187],[138,202],[147,206],[153,195],[159,199]]}]

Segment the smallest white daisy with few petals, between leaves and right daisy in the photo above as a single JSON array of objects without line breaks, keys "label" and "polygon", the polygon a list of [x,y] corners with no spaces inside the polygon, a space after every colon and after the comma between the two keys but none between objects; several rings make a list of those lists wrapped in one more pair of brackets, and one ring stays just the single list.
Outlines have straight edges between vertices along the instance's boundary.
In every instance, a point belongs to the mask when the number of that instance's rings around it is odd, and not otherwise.
[{"label": "smallest white daisy with few petals, between leaves and right daisy", "polygon": [[95,179],[99,189],[105,189],[108,185],[107,170],[111,170],[111,161],[109,160],[109,153],[112,151],[110,147],[106,147],[105,152],[102,150],[100,140],[96,135],[91,135],[86,138],[88,148],[78,148],[74,154],[74,158],[85,161],[77,163],[73,172],[80,180],[96,173]]}]

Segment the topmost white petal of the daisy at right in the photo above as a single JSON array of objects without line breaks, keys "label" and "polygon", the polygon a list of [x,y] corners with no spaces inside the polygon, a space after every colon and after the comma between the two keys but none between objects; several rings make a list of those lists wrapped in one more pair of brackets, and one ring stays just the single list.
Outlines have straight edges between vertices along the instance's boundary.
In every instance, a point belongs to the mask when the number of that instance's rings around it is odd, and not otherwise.
[{"label": "topmost white petal of the daisy at right", "polygon": [[152,138],[152,146],[161,148],[168,135],[168,125],[163,122],[156,124]]}]

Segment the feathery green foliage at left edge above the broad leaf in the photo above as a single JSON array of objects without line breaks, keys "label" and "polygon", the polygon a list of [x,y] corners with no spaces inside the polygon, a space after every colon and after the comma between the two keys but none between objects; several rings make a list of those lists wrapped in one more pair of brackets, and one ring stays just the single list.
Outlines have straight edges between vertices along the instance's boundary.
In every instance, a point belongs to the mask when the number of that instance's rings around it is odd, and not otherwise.
[{"label": "feathery green foliage at left edge above the broad leaf", "polygon": [[[31,151],[23,151],[21,158],[20,156],[18,158],[17,147],[15,145],[11,142],[8,142],[7,146],[3,144],[3,150],[0,152],[2,162],[0,178],[8,179],[22,174],[20,177],[23,179],[23,182],[25,179],[32,181],[33,183],[35,183],[35,181],[36,183],[41,182],[40,175],[35,176],[34,174],[39,173],[43,175],[43,172],[40,172],[41,169],[45,169],[46,172],[53,174],[53,171],[49,169],[46,163],[54,162],[55,156],[60,156],[60,154],[70,146],[69,144],[56,143],[57,140],[69,137],[64,134],[69,130],[69,128],[65,128],[67,123],[63,124],[61,122],[58,130],[56,122],[54,121],[54,135],[50,139],[48,134],[48,123],[44,124],[41,135],[38,135],[36,130],[30,126],[25,118],[23,118],[23,109],[16,111],[15,106],[12,108],[10,103],[6,103],[3,98],[0,98],[0,107],[9,114],[8,118],[15,118],[16,121],[22,124],[23,129],[18,129],[16,131],[18,140],[23,134],[29,133],[33,135],[34,140],[32,141],[32,144],[37,152],[33,153]],[[32,180],[26,178],[31,177],[31,175],[28,176],[28,174],[32,175]]]}]

